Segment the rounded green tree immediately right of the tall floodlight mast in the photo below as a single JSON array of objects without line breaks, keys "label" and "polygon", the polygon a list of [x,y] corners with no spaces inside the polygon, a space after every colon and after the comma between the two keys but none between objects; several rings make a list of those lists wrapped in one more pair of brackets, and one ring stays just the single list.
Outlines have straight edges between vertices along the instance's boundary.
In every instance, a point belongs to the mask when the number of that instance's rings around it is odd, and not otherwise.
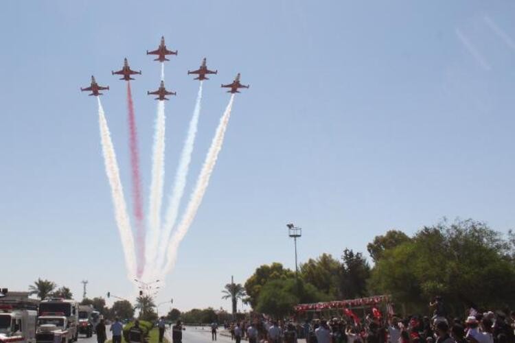
[{"label": "rounded green tree immediately right of the tall floodlight mast", "polygon": [[342,265],[330,254],[322,254],[317,259],[308,259],[300,265],[301,278],[317,287],[329,298],[339,296],[339,279]]}]

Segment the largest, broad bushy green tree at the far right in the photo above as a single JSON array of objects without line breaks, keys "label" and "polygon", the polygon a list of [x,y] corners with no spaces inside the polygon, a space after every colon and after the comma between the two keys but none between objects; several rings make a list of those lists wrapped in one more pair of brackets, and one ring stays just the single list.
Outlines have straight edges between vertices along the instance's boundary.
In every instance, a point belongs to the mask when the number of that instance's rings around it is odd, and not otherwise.
[{"label": "largest, broad bushy green tree at the far right", "polygon": [[500,233],[473,220],[444,221],[385,250],[369,287],[426,311],[428,300],[441,295],[448,311],[458,314],[470,302],[488,308],[513,305],[515,266]]}]

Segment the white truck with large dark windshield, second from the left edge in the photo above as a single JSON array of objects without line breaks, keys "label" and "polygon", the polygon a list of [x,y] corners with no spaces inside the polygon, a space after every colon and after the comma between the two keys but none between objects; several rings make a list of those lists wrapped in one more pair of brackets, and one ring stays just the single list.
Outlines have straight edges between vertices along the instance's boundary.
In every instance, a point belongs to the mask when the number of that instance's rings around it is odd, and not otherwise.
[{"label": "white truck with large dark windshield, second from the left edge", "polygon": [[[62,321],[62,319],[65,320]],[[47,324],[55,324],[55,328],[41,327]],[[47,342],[52,334],[64,335],[67,343],[77,341],[79,338],[78,303],[75,300],[63,298],[41,300],[38,309],[38,333],[40,333],[40,335],[36,335],[38,343],[40,341]],[[56,342],[60,341],[56,340]]]}]

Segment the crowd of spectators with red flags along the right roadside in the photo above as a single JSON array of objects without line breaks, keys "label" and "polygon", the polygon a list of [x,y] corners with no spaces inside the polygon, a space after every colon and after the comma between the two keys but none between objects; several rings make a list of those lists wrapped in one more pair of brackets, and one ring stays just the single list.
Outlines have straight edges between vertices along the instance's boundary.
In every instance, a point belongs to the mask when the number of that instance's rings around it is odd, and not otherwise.
[{"label": "crowd of spectators with red flags along the right roadside", "polygon": [[[249,343],[515,343],[515,312],[480,312],[449,318],[442,298],[430,304],[431,316],[383,316],[371,309],[363,317],[331,316],[311,320],[255,318],[227,324],[231,339]],[[374,311],[372,311],[374,310]]]}]

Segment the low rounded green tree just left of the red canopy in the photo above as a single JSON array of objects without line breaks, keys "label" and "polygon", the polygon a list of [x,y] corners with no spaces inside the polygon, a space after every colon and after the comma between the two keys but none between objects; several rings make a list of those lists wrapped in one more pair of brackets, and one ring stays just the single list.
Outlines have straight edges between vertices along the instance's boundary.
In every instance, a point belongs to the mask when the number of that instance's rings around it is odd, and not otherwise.
[{"label": "low rounded green tree just left of the red canopy", "polygon": [[277,279],[266,283],[258,297],[256,311],[284,318],[293,312],[293,307],[299,303],[316,303],[328,300],[325,294],[301,279]]}]

